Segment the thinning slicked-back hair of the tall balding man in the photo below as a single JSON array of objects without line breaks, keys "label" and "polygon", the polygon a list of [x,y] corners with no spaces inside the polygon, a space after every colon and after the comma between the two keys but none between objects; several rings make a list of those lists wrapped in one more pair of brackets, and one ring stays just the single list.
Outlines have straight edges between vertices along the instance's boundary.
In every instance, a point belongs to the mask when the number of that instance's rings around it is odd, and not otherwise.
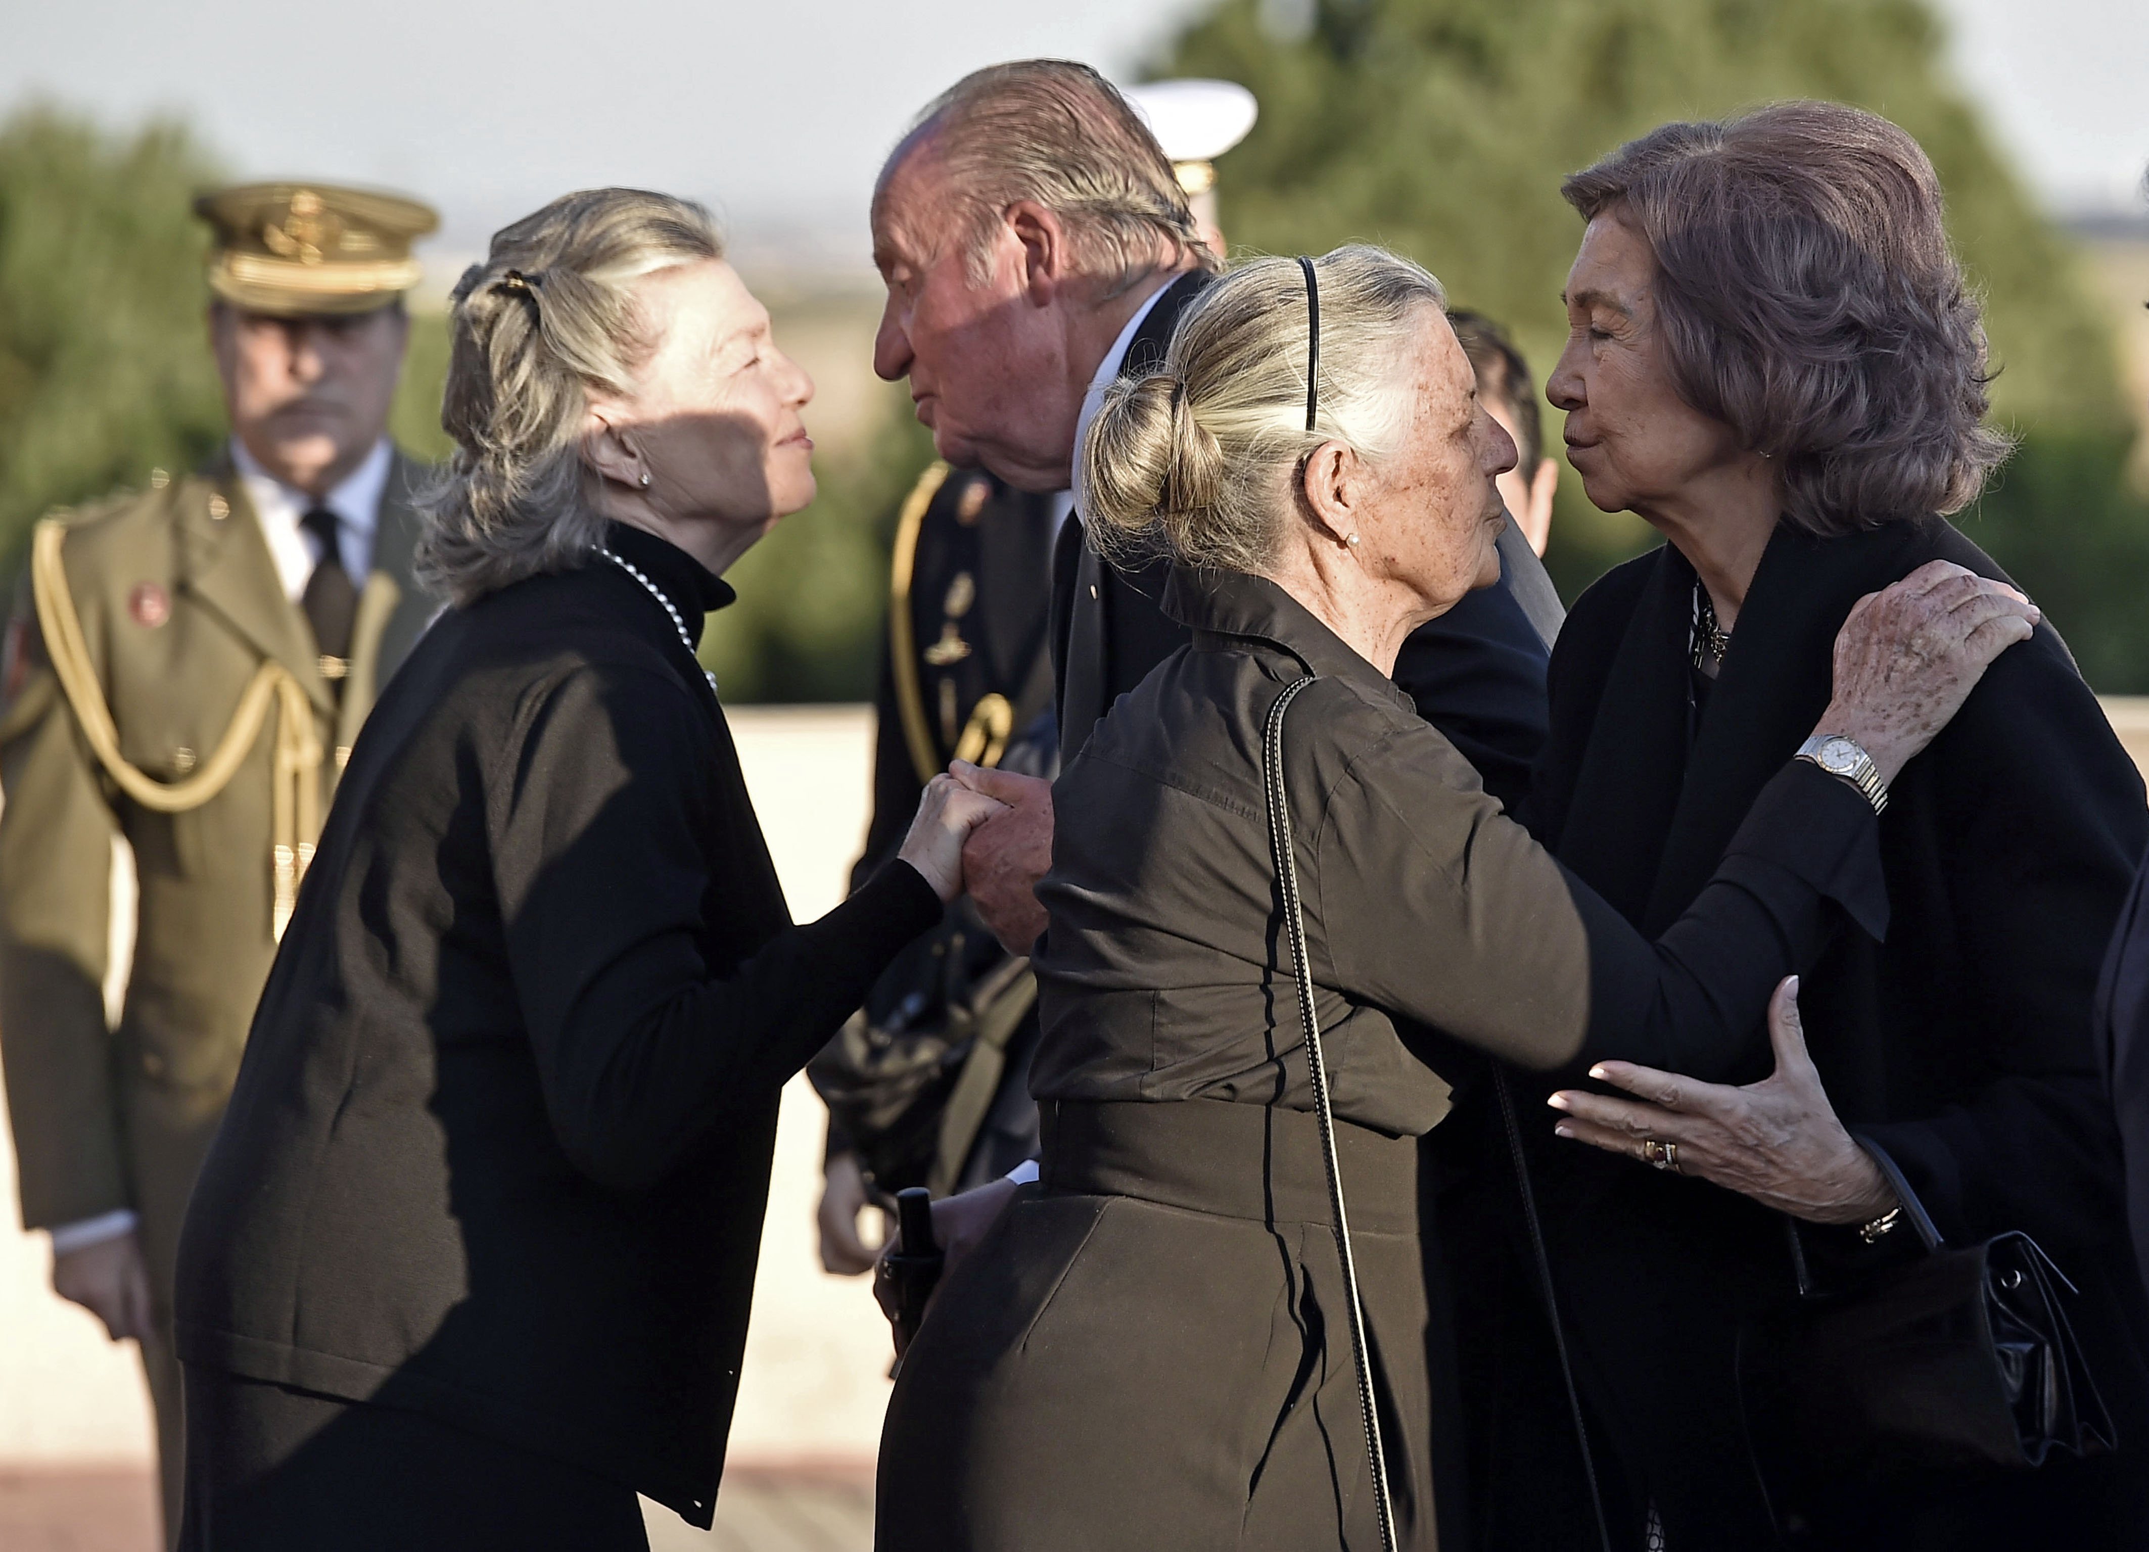
[{"label": "thinning slicked-back hair of the tall balding man", "polygon": [[984,282],[993,232],[1019,200],[1066,221],[1077,271],[1096,277],[1107,299],[1158,271],[1158,245],[1206,271],[1221,267],[1156,135],[1087,64],[1016,60],[971,71],[933,99],[890,153],[883,189],[918,146],[928,146],[948,178],[973,284]]}]

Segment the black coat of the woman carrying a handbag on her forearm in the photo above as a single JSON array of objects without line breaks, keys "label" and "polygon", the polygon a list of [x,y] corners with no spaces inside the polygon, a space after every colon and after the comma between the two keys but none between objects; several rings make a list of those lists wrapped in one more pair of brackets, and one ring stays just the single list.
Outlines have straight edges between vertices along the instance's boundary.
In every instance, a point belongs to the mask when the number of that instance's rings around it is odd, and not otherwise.
[{"label": "black coat of the woman carrying a handbag on her forearm", "polygon": [[[1539,834],[1644,933],[1663,931],[1827,707],[1852,602],[1932,559],[2001,576],[1941,520],[1835,540],[1782,527],[1691,752],[1693,570],[1670,546],[1614,570],[1554,653]],[[2145,843],[2140,776],[2042,626],[1895,780],[1880,821],[1887,931],[1846,922],[1805,972],[1807,1040],[1844,1122],[1902,1165],[1947,1240],[2027,1230],[2080,1285],[2069,1316],[2123,1440],[2087,1464],[1895,1483],[1848,1507],[1829,1546],[2149,1546],[2149,1307],[2091,1040]],[[1659,1505],[1672,1546],[1764,1546],[1732,1348],[1745,1316],[1792,1288],[1786,1221],[1595,1150],[1539,1152],[1567,1316],[1635,1496]],[[1846,1277],[1910,1249],[1898,1236],[1867,1253],[1848,1230],[1801,1238]]]}]

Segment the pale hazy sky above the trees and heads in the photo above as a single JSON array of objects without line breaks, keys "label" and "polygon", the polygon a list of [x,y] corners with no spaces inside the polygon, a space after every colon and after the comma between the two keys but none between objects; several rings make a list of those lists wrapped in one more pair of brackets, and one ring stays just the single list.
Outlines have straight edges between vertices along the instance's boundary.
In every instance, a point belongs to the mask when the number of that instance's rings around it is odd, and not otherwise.
[{"label": "pale hazy sky above the trees and heads", "polygon": [[[52,99],[189,118],[239,174],[402,187],[438,249],[542,200],[640,183],[711,200],[741,247],[791,230],[864,260],[909,116],[967,69],[1059,54],[1133,77],[1201,0],[11,0],[0,116]],[[1956,62],[2063,211],[2140,211],[2149,0],[1941,0]]]}]

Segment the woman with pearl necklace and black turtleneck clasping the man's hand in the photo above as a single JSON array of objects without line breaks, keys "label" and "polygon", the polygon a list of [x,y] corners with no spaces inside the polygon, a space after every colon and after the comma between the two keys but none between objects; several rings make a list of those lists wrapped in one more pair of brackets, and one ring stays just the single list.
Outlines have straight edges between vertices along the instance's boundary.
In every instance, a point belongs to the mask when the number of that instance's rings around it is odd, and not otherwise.
[{"label": "woman with pearl necklace and black turtleneck clasping the man's hand", "polygon": [[181,1245],[202,1552],[645,1548],[636,1492],[707,1526],[778,1090],[997,810],[939,778],[791,924],[694,653],[812,499],[812,383],[701,206],[554,200],[451,329],[451,608],[352,748]]}]

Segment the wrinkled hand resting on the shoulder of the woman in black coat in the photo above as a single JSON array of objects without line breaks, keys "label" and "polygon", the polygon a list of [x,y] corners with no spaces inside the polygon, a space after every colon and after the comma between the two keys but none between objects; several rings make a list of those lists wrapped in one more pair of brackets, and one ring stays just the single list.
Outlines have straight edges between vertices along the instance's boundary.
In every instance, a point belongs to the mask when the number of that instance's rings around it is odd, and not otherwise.
[{"label": "wrinkled hand resting on the shoulder of the woman in black coat", "polygon": [[2042,613],[1953,561],[1928,561],[1852,608],[1835,636],[1835,694],[1816,733],[1859,744],[1893,782]]}]

